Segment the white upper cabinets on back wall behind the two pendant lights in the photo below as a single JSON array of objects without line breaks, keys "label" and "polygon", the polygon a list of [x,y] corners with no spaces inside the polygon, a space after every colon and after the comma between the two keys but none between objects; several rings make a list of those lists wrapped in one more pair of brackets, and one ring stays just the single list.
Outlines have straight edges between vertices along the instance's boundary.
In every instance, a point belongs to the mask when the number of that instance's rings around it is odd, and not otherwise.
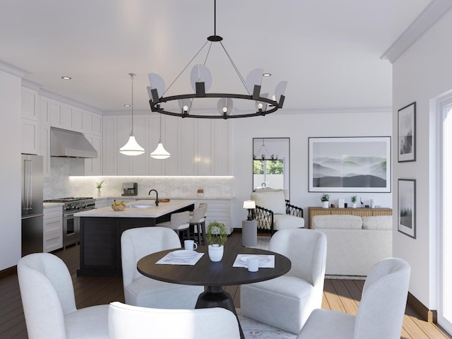
[{"label": "white upper cabinets on back wall behind the two pendant lights", "polygon": [[[160,123],[161,118],[161,123]],[[130,115],[102,117],[103,175],[230,175],[230,122],[222,119],[181,119],[157,114],[135,115],[133,132],[145,148],[137,156],[121,155],[129,139]],[[160,140],[171,157],[150,157]]]}]

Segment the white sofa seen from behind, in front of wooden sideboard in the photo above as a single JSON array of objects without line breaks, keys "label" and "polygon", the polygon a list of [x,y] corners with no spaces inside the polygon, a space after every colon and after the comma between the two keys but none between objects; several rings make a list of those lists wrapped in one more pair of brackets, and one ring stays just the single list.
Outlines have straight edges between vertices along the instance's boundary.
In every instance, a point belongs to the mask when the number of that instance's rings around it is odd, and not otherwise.
[{"label": "white sofa seen from behind, in front of wooden sideboard", "polygon": [[311,227],[326,234],[326,275],[366,276],[392,256],[391,215],[316,215]]}]

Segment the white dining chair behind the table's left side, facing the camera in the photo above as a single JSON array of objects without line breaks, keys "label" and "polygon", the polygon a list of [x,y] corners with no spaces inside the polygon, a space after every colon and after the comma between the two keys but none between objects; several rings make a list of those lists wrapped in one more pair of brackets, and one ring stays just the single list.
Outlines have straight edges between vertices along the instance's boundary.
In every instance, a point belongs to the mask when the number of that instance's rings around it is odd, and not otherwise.
[{"label": "white dining chair behind the table's left side, facing the camera", "polygon": [[138,260],[165,249],[180,249],[177,234],[167,227],[138,227],[121,235],[121,263],[126,304],[159,309],[193,309],[202,286],[165,283],[145,277],[136,269]]}]

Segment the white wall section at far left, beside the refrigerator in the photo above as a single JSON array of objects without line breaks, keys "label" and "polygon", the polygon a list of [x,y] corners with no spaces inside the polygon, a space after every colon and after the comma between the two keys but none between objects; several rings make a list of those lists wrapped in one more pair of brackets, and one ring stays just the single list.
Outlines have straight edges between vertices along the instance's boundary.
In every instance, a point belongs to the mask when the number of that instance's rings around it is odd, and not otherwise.
[{"label": "white wall section at far left, beside the refrigerator", "polygon": [[20,77],[0,70],[0,270],[20,258]]}]

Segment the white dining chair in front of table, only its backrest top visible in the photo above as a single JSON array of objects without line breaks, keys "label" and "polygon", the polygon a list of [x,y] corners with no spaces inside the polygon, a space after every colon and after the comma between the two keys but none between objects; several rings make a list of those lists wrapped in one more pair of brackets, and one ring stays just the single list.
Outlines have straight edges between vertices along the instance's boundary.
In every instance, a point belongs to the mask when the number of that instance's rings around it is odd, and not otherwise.
[{"label": "white dining chair in front of table, only its backrest top visible", "polygon": [[151,309],[120,302],[109,306],[110,339],[239,339],[237,318],[227,309]]}]

